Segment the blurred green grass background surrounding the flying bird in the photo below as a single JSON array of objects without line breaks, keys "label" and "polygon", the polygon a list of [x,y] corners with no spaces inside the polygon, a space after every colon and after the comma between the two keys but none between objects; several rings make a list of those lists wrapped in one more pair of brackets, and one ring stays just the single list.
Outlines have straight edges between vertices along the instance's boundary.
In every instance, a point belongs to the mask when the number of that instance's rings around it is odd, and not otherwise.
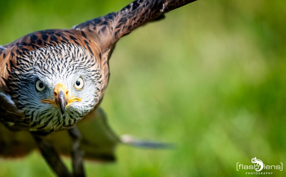
[{"label": "blurred green grass background surrounding the flying bird", "polygon": [[[0,1],[0,44],[70,28],[131,0]],[[284,1],[199,0],[122,38],[101,106],[119,135],[174,150],[119,146],[88,176],[244,176],[236,163],[286,162]],[[65,159],[70,166],[70,160]],[[285,170],[269,170],[285,176]],[[38,152],[0,159],[0,176],[53,176]]]}]

